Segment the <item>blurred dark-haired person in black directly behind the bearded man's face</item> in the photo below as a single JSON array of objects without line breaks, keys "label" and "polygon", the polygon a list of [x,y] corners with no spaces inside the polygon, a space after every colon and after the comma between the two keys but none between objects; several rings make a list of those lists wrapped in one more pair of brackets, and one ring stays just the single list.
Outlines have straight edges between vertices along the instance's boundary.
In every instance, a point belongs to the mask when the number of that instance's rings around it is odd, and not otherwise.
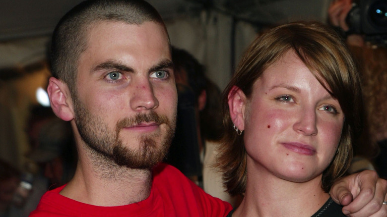
[{"label": "blurred dark-haired person in black directly behind the bearded man's face", "polygon": [[172,47],[172,61],[178,92],[177,122],[175,136],[164,162],[175,166],[202,187],[200,153],[203,144],[198,122],[198,98],[205,87],[204,67],[193,55],[176,47]]}]

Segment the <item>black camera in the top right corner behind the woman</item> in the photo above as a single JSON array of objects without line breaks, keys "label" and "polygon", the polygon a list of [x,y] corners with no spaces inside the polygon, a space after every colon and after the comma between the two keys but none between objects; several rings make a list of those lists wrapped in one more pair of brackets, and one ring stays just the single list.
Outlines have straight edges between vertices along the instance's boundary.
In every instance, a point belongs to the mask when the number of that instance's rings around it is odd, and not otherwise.
[{"label": "black camera in the top right corner behind the woman", "polygon": [[366,41],[387,45],[387,0],[353,2],[346,22],[349,33],[363,34]]}]

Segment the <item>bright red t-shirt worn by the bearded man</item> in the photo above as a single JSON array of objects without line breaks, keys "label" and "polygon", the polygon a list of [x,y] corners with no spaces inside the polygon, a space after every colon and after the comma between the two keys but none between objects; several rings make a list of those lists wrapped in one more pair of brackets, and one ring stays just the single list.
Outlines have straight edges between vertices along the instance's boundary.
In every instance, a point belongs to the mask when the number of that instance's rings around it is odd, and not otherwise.
[{"label": "bright red t-shirt worn by the bearded man", "polygon": [[138,203],[100,207],[48,191],[30,217],[225,217],[231,205],[206,194],[175,167],[160,163],[153,170],[150,195]]}]

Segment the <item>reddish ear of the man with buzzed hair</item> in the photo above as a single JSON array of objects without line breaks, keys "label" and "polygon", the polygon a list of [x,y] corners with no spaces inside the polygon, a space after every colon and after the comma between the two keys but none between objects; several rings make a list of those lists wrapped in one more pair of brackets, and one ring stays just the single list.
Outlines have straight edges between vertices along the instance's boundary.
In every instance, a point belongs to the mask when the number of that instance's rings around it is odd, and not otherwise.
[{"label": "reddish ear of the man with buzzed hair", "polygon": [[65,121],[74,118],[72,99],[67,85],[54,77],[49,80],[47,93],[54,113]]}]

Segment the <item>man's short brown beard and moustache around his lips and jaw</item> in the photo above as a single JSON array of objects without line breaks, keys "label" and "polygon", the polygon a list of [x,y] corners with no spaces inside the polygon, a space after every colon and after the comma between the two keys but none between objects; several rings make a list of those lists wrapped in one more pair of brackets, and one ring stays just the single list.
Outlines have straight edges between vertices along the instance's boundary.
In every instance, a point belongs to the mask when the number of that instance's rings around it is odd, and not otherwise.
[{"label": "man's short brown beard and moustache around his lips and jaw", "polygon": [[[149,114],[137,113],[134,117],[123,118],[116,124],[115,131],[109,130],[106,123],[99,116],[93,115],[76,98],[74,99],[75,124],[85,144],[94,150],[99,159],[110,161],[119,166],[136,169],[150,169],[161,162],[168,153],[176,126],[176,112],[171,120],[165,115],[158,115],[155,111]],[[135,141],[138,148],[129,149],[120,139],[120,131],[124,127],[133,126],[142,122],[164,123],[165,135],[140,135]],[[162,132],[161,132],[162,133]],[[160,143],[160,144],[157,144]],[[135,150],[137,149],[137,150]]]}]

